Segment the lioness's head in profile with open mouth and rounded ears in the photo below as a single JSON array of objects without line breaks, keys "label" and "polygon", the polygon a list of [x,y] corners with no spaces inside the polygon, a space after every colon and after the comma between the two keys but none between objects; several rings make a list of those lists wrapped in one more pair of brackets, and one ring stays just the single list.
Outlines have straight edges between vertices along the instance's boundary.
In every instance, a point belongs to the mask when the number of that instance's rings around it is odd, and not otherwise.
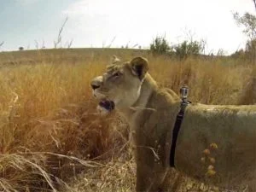
[{"label": "lioness's head in profile with open mouth and rounded ears", "polygon": [[100,101],[98,109],[109,113],[114,108],[131,107],[140,96],[147,73],[147,59],[135,57],[131,61],[121,62],[114,56],[106,72],[92,79],[90,83],[93,95]]}]

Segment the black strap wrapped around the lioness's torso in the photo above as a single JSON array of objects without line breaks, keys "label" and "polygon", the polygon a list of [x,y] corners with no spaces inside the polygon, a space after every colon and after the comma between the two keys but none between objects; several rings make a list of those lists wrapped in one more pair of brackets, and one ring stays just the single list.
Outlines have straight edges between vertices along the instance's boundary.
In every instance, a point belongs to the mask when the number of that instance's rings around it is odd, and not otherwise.
[{"label": "black strap wrapped around the lioness's torso", "polygon": [[185,108],[189,105],[189,101],[183,100],[181,102],[181,108],[179,113],[177,113],[177,118],[175,121],[175,125],[172,131],[172,147],[171,147],[171,154],[170,154],[170,166],[175,167],[174,164],[174,158],[175,158],[175,148],[176,148],[176,143],[177,143],[177,135],[180,130],[181,124],[183,122],[183,116],[185,112]]}]

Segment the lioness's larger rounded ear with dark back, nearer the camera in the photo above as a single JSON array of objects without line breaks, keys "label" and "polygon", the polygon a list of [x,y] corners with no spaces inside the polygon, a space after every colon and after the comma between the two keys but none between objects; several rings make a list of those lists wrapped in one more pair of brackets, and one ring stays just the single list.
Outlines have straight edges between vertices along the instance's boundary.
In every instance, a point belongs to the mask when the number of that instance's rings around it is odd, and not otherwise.
[{"label": "lioness's larger rounded ear with dark back, nearer the camera", "polygon": [[148,72],[148,60],[141,56],[135,57],[131,60],[131,71],[138,76],[139,79],[144,79],[146,73]]}]

